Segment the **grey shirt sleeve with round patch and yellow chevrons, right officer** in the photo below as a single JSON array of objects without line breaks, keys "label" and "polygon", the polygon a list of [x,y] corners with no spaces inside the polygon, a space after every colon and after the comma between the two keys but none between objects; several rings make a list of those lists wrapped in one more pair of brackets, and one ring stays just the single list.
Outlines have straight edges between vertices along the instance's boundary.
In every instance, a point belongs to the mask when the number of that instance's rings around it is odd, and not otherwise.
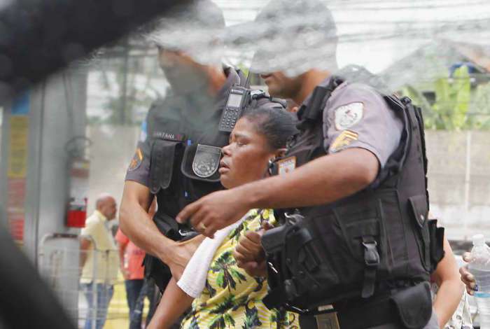
[{"label": "grey shirt sleeve with round patch and yellow chevrons, right officer", "polygon": [[[327,78],[320,85],[326,86],[329,82]],[[376,156],[380,169],[397,148],[402,130],[402,121],[381,94],[368,85],[342,83],[332,92],[323,109],[325,152],[364,148]]]}]

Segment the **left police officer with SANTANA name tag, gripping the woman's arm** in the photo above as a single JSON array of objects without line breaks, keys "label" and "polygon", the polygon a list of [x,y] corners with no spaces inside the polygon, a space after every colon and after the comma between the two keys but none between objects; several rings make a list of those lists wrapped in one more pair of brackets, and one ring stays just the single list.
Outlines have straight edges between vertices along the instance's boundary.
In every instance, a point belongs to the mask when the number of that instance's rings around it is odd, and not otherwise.
[{"label": "left police officer with SANTANA name tag, gripping the woman's arm", "polygon": [[[228,144],[232,127],[228,126],[236,121],[223,111],[232,87],[246,83],[242,73],[221,64],[216,48],[220,49],[217,36],[223,27],[223,14],[216,4],[196,1],[192,7],[169,13],[149,36],[158,45],[160,66],[171,89],[165,99],[151,106],[142,127],[127,169],[120,228],[150,254],[145,270],[160,290],[172,275],[179,279],[203,238],[195,237],[190,225],[176,223],[176,214],[186,204],[222,188],[221,146]],[[255,92],[248,99],[283,109],[264,93]],[[147,209],[153,195],[158,211],[152,221]],[[188,241],[176,243],[180,240]]]}]

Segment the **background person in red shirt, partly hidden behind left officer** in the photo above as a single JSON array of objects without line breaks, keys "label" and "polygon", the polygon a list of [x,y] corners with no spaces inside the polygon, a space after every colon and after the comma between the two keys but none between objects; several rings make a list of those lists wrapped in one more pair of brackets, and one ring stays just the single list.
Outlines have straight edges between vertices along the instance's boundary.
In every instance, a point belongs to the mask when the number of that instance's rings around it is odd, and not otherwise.
[{"label": "background person in red shirt, partly hidden behind left officer", "polygon": [[[155,214],[155,208],[156,202],[153,201],[153,204],[151,204],[151,207],[148,211],[150,216],[153,216]],[[120,228],[116,233],[116,241],[118,241],[120,270],[123,273],[125,279],[127,306],[130,308],[130,329],[141,328],[141,311],[143,306],[142,302],[139,303],[141,304],[141,309],[139,310],[139,312],[137,310],[137,301],[139,297],[141,301],[143,300],[143,298],[141,298],[140,296],[141,293],[144,293],[144,295],[148,295],[150,303],[153,304],[153,296],[150,296],[150,294],[148,294],[146,291],[142,291],[144,289],[145,283],[143,267],[145,252],[132,241],[130,241],[130,239],[120,230]],[[147,285],[149,284],[152,283],[147,282]],[[148,287],[144,290],[153,291],[153,289],[148,289]],[[153,307],[151,307],[151,309],[153,309]],[[148,314],[147,321],[149,321],[150,317],[151,315]]]}]

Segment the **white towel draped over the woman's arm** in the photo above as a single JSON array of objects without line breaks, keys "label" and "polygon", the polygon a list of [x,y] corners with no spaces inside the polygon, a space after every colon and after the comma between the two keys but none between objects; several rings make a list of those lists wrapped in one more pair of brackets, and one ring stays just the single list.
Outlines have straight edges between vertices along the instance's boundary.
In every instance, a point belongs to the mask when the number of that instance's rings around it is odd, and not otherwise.
[{"label": "white towel draped over the woman's arm", "polygon": [[232,225],[216,231],[214,233],[214,239],[207,237],[196,249],[186,269],[184,269],[181,279],[177,282],[177,286],[184,290],[186,294],[190,295],[190,297],[197,298],[201,295],[206,285],[209,265],[211,265],[214,253],[216,253],[216,250],[221,246],[221,243],[230,234],[231,230],[237,228],[247,215],[248,213]]}]

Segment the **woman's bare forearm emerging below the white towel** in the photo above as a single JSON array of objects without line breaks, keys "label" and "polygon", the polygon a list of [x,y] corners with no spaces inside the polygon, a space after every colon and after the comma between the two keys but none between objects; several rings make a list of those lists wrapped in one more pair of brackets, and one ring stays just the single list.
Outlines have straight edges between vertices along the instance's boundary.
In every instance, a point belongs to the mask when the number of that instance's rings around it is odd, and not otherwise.
[{"label": "woman's bare forearm emerging below the white towel", "polygon": [[172,277],[165,292],[162,295],[160,304],[151,318],[148,329],[167,329],[170,328],[193,303],[194,298],[190,297],[177,286]]}]

